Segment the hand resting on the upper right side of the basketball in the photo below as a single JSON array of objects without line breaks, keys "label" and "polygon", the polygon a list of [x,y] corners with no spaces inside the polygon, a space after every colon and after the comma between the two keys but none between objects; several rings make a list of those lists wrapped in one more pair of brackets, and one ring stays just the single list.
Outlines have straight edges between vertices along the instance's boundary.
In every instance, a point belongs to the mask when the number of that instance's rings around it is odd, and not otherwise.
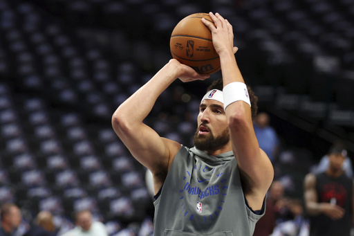
[{"label": "hand resting on the upper right side of the basketball", "polygon": [[218,53],[218,55],[224,51],[236,53],[238,48],[234,47],[234,33],[230,22],[218,13],[214,15],[212,12],[209,12],[209,16],[214,21],[215,26],[212,22],[204,18],[202,21],[212,32],[213,45],[216,53]]}]

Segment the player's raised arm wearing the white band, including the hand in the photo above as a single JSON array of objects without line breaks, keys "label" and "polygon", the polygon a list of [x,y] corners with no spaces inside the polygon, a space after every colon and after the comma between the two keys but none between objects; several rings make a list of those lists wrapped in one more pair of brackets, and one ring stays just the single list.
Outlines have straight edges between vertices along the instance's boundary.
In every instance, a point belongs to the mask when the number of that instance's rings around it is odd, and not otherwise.
[{"label": "player's raised arm wearing the white band, including the hand", "polygon": [[212,31],[213,43],[221,61],[224,109],[227,116],[232,150],[239,163],[243,190],[254,210],[261,209],[263,199],[274,176],[268,156],[259,148],[252,124],[252,112],[247,87],[234,57],[234,35],[231,24],[209,13],[214,24],[203,20]]}]

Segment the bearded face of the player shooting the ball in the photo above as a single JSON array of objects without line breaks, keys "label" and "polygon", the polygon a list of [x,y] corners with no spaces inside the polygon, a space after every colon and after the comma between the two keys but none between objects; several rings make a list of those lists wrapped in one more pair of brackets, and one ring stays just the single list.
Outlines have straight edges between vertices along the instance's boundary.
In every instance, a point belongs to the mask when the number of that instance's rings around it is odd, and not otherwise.
[{"label": "bearded face of the player shooting the ball", "polygon": [[230,132],[223,104],[216,100],[203,100],[199,107],[194,145],[204,151],[214,151],[229,142]]}]

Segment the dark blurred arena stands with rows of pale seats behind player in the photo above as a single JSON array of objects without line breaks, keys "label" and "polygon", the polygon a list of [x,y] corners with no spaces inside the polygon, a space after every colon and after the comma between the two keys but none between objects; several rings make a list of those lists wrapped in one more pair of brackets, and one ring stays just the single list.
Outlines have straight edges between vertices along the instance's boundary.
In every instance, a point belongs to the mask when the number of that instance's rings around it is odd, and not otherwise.
[{"label": "dark blurred arena stands with rows of pale seats behind player", "polygon": [[[110,235],[149,235],[145,168],[111,128],[115,109],[171,58],[174,26],[219,12],[279,138],[276,179],[302,198],[330,145],[354,151],[353,0],[0,0],[0,203],[50,210],[64,233],[89,209]],[[145,122],[192,147],[209,82],[176,81]],[[150,230],[150,231],[149,231]]]}]

